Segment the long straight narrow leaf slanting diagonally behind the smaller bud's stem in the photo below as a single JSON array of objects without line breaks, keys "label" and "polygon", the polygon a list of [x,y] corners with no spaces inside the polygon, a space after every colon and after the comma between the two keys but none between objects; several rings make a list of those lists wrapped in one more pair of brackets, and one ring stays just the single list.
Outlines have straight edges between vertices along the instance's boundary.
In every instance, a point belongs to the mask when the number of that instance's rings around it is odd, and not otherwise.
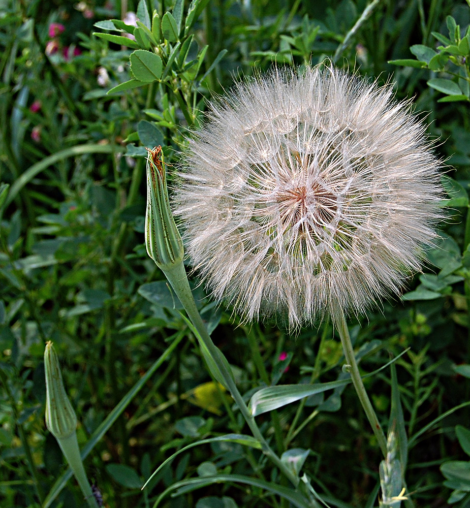
[{"label": "long straight narrow leaf slanting diagonally behind the smaller bud's stem", "polygon": [[[176,334],[173,342],[166,348],[165,352],[161,355],[161,357],[156,360],[156,362],[147,370],[145,375],[143,375],[138,382],[129,390],[129,392],[124,395],[121,401],[117,404],[117,406],[110,412],[110,414],[103,420],[100,426],[93,432],[88,439],[87,443],[83,447],[81,451],[81,457],[84,459],[93,448],[97,442],[106,434],[111,425],[117,420],[119,415],[121,415],[122,411],[126,409],[126,407],[130,404],[132,399],[137,395],[137,393],[141,390],[141,388],[147,383],[148,379],[152,376],[156,369],[162,365],[162,363],[173,353],[176,346],[181,342],[181,339],[184,337],[184,332],[179,332]],[[60,477],[57,479],[55,484],[52,486],[49,494],[47,494],[46,499],[42,505],[42,508],[49,508],[54,499],[57,497],[59,492],[66,486],[67,482],[72,477],[72,470],[70,467],[64,471]]]}]

